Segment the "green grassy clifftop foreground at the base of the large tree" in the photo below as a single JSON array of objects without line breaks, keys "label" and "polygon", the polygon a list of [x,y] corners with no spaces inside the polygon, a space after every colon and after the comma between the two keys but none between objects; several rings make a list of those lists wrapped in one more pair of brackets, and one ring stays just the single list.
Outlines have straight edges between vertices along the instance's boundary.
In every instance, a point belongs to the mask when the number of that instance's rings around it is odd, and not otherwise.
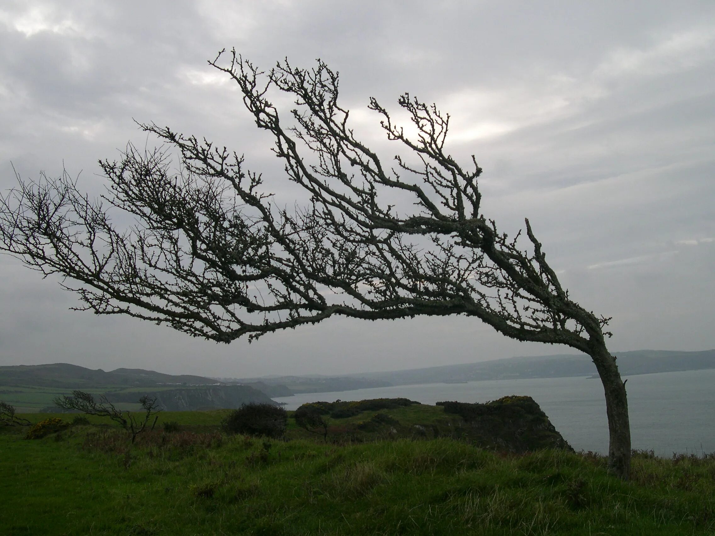
[{"label": "green grassy clifftop foreground at the base of the large tree", "polygon": [[606,474],[603,458],[564,451],[516,457],[445,438],[325,445],[227,437],[215,431],[222,414],[162,413],[184,430],[145,434],[136,445],[110,426],[41,440],[0,432],[0,532],[715,533],[713,458],[641,453],[633,480],[621,482]]}]

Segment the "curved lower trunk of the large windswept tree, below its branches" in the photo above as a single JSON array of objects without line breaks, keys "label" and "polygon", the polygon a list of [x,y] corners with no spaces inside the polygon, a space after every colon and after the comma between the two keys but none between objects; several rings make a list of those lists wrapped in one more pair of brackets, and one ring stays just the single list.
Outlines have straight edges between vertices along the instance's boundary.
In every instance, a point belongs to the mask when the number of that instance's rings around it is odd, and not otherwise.
[{"label": "curved lower trunk of the large windswept tree, below its branches", "polygon": [[591,352],[603,383],[608,415],[608,472],[628,480],[631,472],[631,426],[628,422],[626,386],[618,372],[616,357],[601,344]]}]

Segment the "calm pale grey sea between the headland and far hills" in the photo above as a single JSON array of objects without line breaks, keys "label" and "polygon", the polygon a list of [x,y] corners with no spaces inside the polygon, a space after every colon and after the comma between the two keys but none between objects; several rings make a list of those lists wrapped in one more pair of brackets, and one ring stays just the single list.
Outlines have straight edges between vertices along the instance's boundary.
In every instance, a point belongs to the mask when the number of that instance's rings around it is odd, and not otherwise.
[{"label": "calm pale grey sea between the headland and far hills", "polygon": [[[628,377],[633,448],[656,454],[715,452],[715,369]],[[433,383],[275,398],[295,410],[305,402],[404,397],[423,404],[442,400],[485,402],[526,394],[538,402],[556,430],[576,450],[608,452],[603,387],[598,379],[501,379],[461,384]]]}]

